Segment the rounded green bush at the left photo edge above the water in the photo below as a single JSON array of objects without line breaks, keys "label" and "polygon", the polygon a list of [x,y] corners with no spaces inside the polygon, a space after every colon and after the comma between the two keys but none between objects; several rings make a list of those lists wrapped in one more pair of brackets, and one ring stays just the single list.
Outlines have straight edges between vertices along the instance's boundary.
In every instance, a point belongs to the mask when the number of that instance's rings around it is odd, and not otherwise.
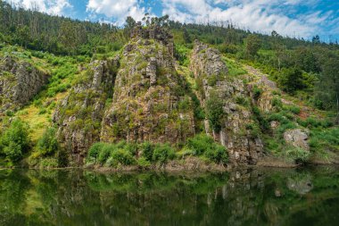
[{"label": "rounded green bush at the left photo edge above the water", "polygon": [[29,148],[29,125],[20,119],[14,119],[0,138],[0,154],[5,155],[8,161],[15,163],[29,152]]}]

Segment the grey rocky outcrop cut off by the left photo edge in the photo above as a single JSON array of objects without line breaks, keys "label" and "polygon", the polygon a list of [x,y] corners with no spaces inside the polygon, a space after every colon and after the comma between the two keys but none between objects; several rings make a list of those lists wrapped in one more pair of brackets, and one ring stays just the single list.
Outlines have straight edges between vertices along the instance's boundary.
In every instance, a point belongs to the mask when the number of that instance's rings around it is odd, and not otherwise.
[{"label": "grey rocky outcrop cut off by the left photo edge", "polygon": [[0,113],[28,103],[47,81],[48,75],[30,63],[0,59]]}]

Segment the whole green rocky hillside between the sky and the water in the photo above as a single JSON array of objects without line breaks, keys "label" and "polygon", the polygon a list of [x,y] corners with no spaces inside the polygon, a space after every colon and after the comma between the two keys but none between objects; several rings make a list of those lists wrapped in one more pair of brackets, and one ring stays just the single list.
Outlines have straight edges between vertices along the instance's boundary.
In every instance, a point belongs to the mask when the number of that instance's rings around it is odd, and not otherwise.
[{"label": "whole green rocky hillside between the sky and the water", "polygon": [[[167,17],[106,29],[35,14],[87,28],[87,39],[61,52],[0,28],[2,166],[339,163],[335,44]],[[92,36],[97,26],[103,39]],[[45,37],[73,37],[63,31]]]}]

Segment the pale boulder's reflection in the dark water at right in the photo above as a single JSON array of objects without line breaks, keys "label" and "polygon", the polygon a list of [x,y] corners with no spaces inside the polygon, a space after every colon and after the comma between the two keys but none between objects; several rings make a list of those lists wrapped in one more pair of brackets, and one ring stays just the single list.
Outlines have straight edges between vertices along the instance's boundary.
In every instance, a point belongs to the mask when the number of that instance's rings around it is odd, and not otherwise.
[{"label": "pale boulder's reflection in the dark water at right", "polygon": [[294,178],[289,178],[287,180],[287,188],[295,191],[300,195],[305,195],[306,193],[309,193],[310,190],[313,188],[310,174],[298,174]]}]

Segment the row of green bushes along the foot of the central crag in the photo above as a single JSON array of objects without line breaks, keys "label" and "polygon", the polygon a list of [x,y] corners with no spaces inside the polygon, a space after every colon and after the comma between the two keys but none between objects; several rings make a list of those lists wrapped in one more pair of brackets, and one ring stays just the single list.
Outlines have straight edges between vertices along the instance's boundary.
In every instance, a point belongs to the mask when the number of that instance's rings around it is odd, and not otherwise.
[{"label": "row of green bushes along the foot of the central crag", "polygon": [[150,142],[117,144],[95,143],[88,150],[87,164],[100,164],[106,167],[138,165],[148,168],[152,164],[163,165],[174,159],[185,159],[187,156],[201,157],[204,161],[226,164],[227,149],[218,145],[213,138],[196,135],[189,138],[181,151],[169,144],[153,144]]}]

